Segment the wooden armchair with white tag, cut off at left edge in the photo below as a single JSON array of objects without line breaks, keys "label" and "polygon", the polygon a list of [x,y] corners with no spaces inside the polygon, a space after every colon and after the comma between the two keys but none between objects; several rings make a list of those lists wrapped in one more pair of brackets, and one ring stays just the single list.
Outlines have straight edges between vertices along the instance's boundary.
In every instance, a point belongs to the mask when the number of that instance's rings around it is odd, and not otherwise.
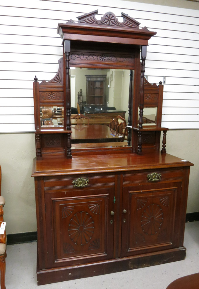
[{"label": "wooden armchair with white tag, cut off at left edge", "polygon": [[[0,225],[4,222],[5,205],[4,197],[1,196],[1,166],[0,166]],[[0,271],[1,271],[1,289],[6,289],[5,274],[6,274],[6,230],[0,235]]]}]

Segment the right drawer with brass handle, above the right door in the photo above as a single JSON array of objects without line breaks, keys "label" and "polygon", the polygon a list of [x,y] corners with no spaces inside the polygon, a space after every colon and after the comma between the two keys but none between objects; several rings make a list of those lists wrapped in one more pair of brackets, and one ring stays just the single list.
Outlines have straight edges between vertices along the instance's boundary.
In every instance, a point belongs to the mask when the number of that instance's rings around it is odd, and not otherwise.
[{"label": "right drawer with brass handle, above the right door", "polygon": [[[155,176],[154,176],[154,173]],[[151,175],[151,177],[147,177]],[[164,168],[123,173],[123,186],[182,181],[183,168]],[[150,180],[151,179],[151,180]],[[154,181],[155,179],[155,181]],[[152,181],[153,180],[153,181]]]}]

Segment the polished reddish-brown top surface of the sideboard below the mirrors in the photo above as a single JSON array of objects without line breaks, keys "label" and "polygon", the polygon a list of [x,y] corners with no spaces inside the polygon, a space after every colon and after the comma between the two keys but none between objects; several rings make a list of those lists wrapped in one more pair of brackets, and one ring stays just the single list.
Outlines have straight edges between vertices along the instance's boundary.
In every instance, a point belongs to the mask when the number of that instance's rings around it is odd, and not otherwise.
[{"label": "polished reddish-brown top surface of the sideboard below the mirrors", "polygon": [[56,176],[83,173],[106,173],[119,171],[134,171],[156,168],[173,168],[193,166],[189,161],[183,161],[170,154],[153,152],[138,156],[135,153],[74,156],[72,159],[51,157],[33,161],[32,177]]}]

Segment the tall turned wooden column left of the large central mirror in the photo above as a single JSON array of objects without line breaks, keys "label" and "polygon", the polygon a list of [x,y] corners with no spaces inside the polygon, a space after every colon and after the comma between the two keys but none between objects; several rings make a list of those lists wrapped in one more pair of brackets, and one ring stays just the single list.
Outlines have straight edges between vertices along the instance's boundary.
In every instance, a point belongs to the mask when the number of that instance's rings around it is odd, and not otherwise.
[{"label": "tall turned wooden column left of the large central mirror", "polygon": [[[70,88],[70,67],[69,55],[71,52],[71,42],[64,40],[64,52],[66,56],[66,131],[71,131],[71,88]],[[65,141],[65,155],[72,158],[71,154],[71,132],[67,133]]]}]

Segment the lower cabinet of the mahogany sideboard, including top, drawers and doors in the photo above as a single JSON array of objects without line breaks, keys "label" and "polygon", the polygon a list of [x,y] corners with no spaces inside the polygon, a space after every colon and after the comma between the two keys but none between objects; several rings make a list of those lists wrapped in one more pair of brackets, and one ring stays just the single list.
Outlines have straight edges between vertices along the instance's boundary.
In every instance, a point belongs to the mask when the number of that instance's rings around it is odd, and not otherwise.
[{"label": "lower cabinet of the mahogany sideboard, including top, drawers and doors", "polygon": [[159,152],[35,160],[38,285],[184,259],[191,165]]}]

